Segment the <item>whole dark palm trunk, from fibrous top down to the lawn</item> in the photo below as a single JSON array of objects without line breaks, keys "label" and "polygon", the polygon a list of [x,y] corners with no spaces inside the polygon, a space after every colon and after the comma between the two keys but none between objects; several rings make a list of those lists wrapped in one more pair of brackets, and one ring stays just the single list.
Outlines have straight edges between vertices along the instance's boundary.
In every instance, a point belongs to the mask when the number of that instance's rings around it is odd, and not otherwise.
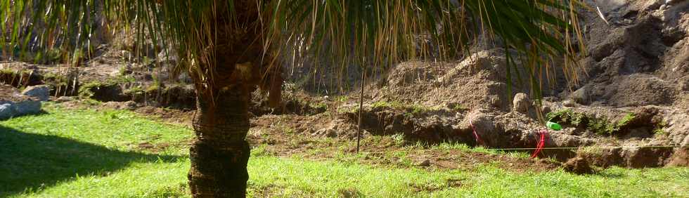
[{"label": "whole dark palm trunk, from fibrous top down to the lawn", "polygon": [[[202,62],[214,70],[211,88],[196,82],[197,112],[193,119],[196,138],[189,157],[189,187],[193,197],[245,197],[250,146],[250,93],[257,86],[269,90],[270,103],[279,103],[282,79],[279,67],[262,64],[264,50],[258,8],[253,1],[235,1],[236,19],[244,28],[230,28],[228,15],[218,15],[211,32],[217,37],[211,58]],[[219,11],[218,13],[227,13]],[[265,62],[265,61],[264,61]],[[269,61],[268,61],[269,62]],[[215,66],[215,67],[211,67]],[[206,86],[208,87],[208,86]],[[199,91],[202,90],[202,91]],[[277,101],[276,101],[277,100]]]}]

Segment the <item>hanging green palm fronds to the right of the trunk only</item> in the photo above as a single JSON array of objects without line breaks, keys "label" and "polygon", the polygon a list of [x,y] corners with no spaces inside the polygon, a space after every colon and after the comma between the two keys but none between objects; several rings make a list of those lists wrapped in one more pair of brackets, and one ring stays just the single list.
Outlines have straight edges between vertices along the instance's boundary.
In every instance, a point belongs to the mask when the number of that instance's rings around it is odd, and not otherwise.
[{"label": "hanging green palm fronds to the right of the trunk only", "polygon": [[380,67],[466,55],[472,40],[486,34],[514,56],[508,58],[510,67],[522,60],[519,65],[537,91],[539,71],[554,72],[553,65],[562,65],[565,76],[576,81],[577,51],[584,46],[575,12],[581,5],[577,0],[271,1],[264,11],[270,20],[266,46],[316,58],[327,53],[333,60],[328,63],[342,67],[347,62]]}]

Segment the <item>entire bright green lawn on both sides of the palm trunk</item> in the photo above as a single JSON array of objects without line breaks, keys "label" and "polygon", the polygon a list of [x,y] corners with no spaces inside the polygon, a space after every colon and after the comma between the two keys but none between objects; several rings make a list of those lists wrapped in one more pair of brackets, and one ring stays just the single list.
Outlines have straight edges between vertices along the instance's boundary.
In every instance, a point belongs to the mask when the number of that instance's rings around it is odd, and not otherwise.
[{"label": "entire bright green lawn on both sides of the palm trunk", "polygon": [[[0,121],[0,197],[188,197],[189,128],[126,111],[64,110]],[[153,145],[142,150],[139,145]],[[249,194],[276,197],[689,197],[689,169],[612,168],[589,176],[400,169],[352,161],[249,161]]]}]

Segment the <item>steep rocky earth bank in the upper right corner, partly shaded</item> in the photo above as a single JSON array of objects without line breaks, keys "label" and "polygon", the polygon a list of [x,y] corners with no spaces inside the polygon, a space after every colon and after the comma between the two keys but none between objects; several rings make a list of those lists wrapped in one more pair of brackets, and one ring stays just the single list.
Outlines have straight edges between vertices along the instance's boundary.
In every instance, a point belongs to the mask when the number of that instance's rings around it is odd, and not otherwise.
[{"label": "steep rocky earth bank in the upper right corner, partly shaded", "polygon": [[[609,25],[586,14],[588,74],[584,104],[629,107],[681,104],[689,83],[689,1],[600,4]],[[573,93],[562,93],[577,98]],[[688,108],[682,105],[683,108]]]}]

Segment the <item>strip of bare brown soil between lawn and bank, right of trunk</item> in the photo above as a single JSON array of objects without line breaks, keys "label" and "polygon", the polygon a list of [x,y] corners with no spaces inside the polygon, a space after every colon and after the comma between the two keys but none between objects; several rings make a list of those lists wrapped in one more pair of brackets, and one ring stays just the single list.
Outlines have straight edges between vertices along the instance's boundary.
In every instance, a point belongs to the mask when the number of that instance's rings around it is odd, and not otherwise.
[{"label": "strip of bare brown soil between lawn and bank, right of trunk", "polygon": [[[265,152],[282,157],[299,155],[307,159],[342,159],[343,156],[356,155],[356,128],[322,124],[324,120],[337,122],[337,117],[326,114],[316,116],[266,115],[252,119],[252,129],[248,140],[252,145],[261,145]],[[326,121],[327,123],[327,121]],[[312,128],[338,128],[343,132],[336,134],[315,133]],[[327,130],[327,129],[326,129]],[[329,137],[328,137],[329,136]],[[409,167],[427,169],[474,169],[480,164],[496,164],[510,171],[548,171],[558,169],[557,162],[522,159],[501,154],[487,154],[466,150],[442,150],[430,147],[408,147],[399,144],[392,136],[373,136],[368,131],[363,134],[361,154],[356,162],[380,166]],[[354,155],[352,155],[354,154]]]}]

